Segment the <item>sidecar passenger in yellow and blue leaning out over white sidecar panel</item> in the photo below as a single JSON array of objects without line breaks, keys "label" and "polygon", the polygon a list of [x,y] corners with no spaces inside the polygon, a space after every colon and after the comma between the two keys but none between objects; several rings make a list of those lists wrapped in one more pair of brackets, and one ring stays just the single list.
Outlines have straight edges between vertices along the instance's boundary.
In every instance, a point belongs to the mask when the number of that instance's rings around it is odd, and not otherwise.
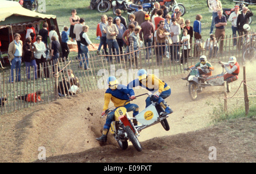
[{"label": "sidecar passenger in yellow and blue leaning out over white sidecar panel", "polygon": [[[133,87],[141,86],[146,88],[148,91],[151,91],[153,94],[157,91],[153,96],[154,101],[165,109],[165,115],[172,113],[172,109],[166,104],[166,101],[164,101],[164,99],[171,95],[171,87],[157,78],[154,74],[147,74],[147,71],[144,69],[138,71],[138,77],[139,78],[131,81],[127,88],[132,89]],[[147,97],[146,108],[150,104],[151,99],[150,97]]]}]

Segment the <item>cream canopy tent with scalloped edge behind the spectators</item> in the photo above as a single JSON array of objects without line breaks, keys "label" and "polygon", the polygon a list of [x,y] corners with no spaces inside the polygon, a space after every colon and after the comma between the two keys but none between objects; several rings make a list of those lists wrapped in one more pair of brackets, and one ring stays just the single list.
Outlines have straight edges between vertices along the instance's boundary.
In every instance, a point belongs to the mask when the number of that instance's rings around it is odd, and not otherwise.
[{"label": "cream canopy tent with scalloped edge behind the spectators", "polygon": [[8,50],[9,43],[13,41],[14,33],[19,33],[22,36],[21,40],[24,41],[26,26],[32,24],[39,31],[40,24],[43,22],[47,22],[49,27],[54,24],[57,27],[56,32],[60,33],[55,15],[40,14],[23,8],[18,2],[0,0],[1,51],[6,52]]}]

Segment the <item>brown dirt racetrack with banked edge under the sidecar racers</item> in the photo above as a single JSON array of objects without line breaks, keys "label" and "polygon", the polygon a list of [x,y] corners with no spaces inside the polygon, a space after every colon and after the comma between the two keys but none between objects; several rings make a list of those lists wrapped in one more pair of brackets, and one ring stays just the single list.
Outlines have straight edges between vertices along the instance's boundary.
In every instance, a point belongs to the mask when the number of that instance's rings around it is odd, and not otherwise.
[{"label": "brown dirt racetrack with banked edge under the sidecar racers", "polygon": [[[247,69],[247,82],[256,86],[253,71]],[[206,88],[192,101],[180,77],[164,79],[172,89],[166,100],[174,110],[168,118],[171,130],[160,124],[142,130],[142,152],[133,146],[120,150],[111,135],[106,146],[96,141],[105,123],[100,118],[105,90],[100,90],[2,116],[0,162],[148,162],[152,157],[154,162],[210,162],[210,146],[217,148],[216,162],[255,162],[255,118],[207,127],[214,109],[223,103],[222,87]],[[233,89],[241,79],[242,70]],[[135,90],[136,95],[145,92]],[[134,103],[143,109],[145,99]],[[230,100],[229,107],[241,101]],[[37,160],[40,146],[46,148],[47,160]]]}]

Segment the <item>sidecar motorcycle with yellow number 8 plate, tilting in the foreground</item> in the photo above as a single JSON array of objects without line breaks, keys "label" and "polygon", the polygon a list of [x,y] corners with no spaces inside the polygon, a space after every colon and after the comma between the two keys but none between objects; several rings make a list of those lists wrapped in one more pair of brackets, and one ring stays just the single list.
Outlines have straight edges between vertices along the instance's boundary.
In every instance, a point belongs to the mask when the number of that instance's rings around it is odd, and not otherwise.
[{"label": "sidecar motorcycle with yellow number 8 plate, tilting in the foreground", "polygon": [[[142,94],[136,97],[143,95],[148,94]],[[170,130],[170,126],[166,120],[166,118],[168,118],[168,115],[164,114],[164,109],[159,104],[154,102],[151,96],[150,99],[152,101],[151,105],[149,105],[146,109],[140,112],[135,118],[129,116],[125,107],[118,107],[115,110],[115,120],[112,121],[109,131],[114,135],[115,140],[117,141],[119,147],[122,148],[122,150],[125,150],[128,147],[129,140],[137,151],[142,151],[141,143],[138,140],[139,132],[142,129],[148,128],[149,126],[161,122],[165,130]],[[125,104],[129,101],[131,100],[127,100]],[[107,109],[104,116],[112,111],[113,109],[111,108]],[[134,126],[132,120],[137,120],[139,122],[139,125]]]}]

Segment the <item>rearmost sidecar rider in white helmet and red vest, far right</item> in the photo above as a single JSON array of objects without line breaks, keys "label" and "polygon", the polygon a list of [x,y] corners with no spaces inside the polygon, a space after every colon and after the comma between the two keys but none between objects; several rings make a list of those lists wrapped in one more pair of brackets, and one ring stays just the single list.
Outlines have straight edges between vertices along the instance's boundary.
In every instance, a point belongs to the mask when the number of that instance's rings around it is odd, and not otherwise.
[{"label": "rearmost sidecar rider in white helmet and red vest, far right", "polygon": [[[221,64],[222,67],[225,68],[226,70],[226,74],[224,74],[224,80],[228,83],[230,82],[234,82],[238,79],[238,74],[240,72],[240,65],[237,62],[237,58],[232,56],[229,58],[229,62],[225,63],[225,62],[218,62]],[[228,66],[230,67],[230,69],[228,69]]]}]

